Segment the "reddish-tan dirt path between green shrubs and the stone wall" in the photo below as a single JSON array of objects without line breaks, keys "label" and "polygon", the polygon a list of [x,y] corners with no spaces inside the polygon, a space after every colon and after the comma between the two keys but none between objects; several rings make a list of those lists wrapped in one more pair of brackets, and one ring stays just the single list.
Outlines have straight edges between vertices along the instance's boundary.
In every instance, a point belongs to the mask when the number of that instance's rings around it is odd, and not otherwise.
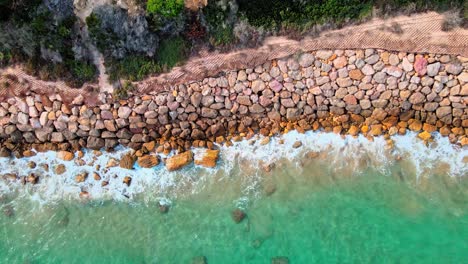
[{"label": "reddish-tan dirt path between green shrubs and the stone wall", "polygon": [[[212,52],[190,58],[184,65],[170,72],[150,77],[135,83],[137,93],[157,93],[170,86],[192,80],[215,76],[222,71],[248,68],[266,61],[287,57],[297,52],[318,49],[364,49],[377,48],[391,51],[452,54],[468,57],[468,30],[456,28],[442,31],[444,15],[435,12],[390,19],[375,18],[361,25],[322,32],[316,37],[300,41],[285,37],[267,38],[261,47],[243,49],[229,53]],[[399,33],[392,31],[396,25]],[[99,88],[96,84],[85,85],[85,89],[73,89],[63,82],[46,82],[27,75],[20,68],[7,68],[0,72],[0,82],[6,74],[19,80],[10,88],[0,91],[0,99],[24,95],[28,91],[39,94],[60,94],[65,102],[83,94],[92,104],[97,103]],[[87,88],[86,88],[87,87]],[[103,87],[101,91],[104,92]]]}]

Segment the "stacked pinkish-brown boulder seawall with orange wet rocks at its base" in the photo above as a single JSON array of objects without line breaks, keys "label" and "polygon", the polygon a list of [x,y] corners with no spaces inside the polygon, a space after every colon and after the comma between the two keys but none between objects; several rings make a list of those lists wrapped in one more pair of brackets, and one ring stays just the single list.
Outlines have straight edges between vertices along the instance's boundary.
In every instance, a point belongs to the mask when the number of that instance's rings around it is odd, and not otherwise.
[{"label": "stacked pinkish-brown boulder seawall with orange wet rocks at its base", "polygon": [[[66,104],[59,95],[31,92],[1,102],[0,156],[124,145],[136,152],[122,167],[156,166],[154,153],[174,150],[179,155],[165,164],[176,170],[193,161],[192,146],[214,149],[293,129],[385,135],[389,145],[389,136],[407,130],[425,141],[438,131],[453,144],[468,144],[468,58],[462,56],[318,50],[128,100],[101,96],[106,103],[97,106],[82,96]],[[197,164],[213,167],[216,159],[209,152]]]}]

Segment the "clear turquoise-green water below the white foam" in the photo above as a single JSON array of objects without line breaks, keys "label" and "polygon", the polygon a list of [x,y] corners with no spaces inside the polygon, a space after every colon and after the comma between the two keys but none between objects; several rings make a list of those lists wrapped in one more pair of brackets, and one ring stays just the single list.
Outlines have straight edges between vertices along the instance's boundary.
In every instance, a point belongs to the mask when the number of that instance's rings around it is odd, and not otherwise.
[{"label": "clear turquoise-green water below the white foam", "polygon": [[[321,175],[317,175],[321,171]],[[276,192],[230,212],[236,187],[173,202],[10,201],[0,216],[2,263],[466,263],[468,188],[464,179],[415,183],[367,171],[331,177],[326,166],[278,169],[260,185]],[[251,197],[252,198],[252,197]],[[5,201],[4,201],[5,202]]]}]

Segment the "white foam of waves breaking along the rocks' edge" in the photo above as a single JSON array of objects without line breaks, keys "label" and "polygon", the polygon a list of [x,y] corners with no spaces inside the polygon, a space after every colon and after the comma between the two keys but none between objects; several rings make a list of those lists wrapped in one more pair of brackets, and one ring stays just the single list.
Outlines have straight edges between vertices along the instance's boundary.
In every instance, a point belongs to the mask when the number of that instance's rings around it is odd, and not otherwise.
[{"label": "white foam of waves breaking along the rocks' edge", "polygon": [[[79,193],[84,190],[93,199],[131,200],[136,195],[142,194],[145,201],[161,201],[170,203],[167,197],[174,197],[180,190],[198,192],[202,191],[206,184],[216,184],[213,179],[221,181],[224,177],[243,177],[242,191],[245,197],[251,197],[258,191],[257,180],[261,177],[260,163],[271,164],[280,160],[287,160],[300,168],[300,162],[307,152],[326,153],[326,162],[332,170],[347,169],[353,174],[359,174],[365,167],[372,167],[382,173],[387,173],[397,156],[411,161],[417,176],[425,175],[436,168],[441,162],[449,165],[451,176],[465,176],[468,174],[468,166],[464,163],[464,157],[468,156],[468,148],[461,148],[449,143],[448,139],[435,135],[435,143],[428,147],[423,141],[417,139],[415,133],[393,137],[395,148],[388,150],[382,137],[369,141],[363,136],[353,138],[342,137],[333,133],[307,132],[300,134],[292,131],[280,137],[273,137],[270,143],[261,145],[262,137],[255,142],[244,140],[235,142],[233,146],[218,146],[220,148],[220,161],[216,168],[207,169],[190,165],[178,172],[168,172],[160,164],[152,169],[141,168],[135,165],[134,170],[124,170],[119,167],[106,169],[110,158],[120,159],[129,151],[119,147],[115,152],[104,153],[95,157],[92,151],[84,151],[83,160],[87,165],[78,166],[74,161],[61,161],[56,159],[55,152],[38,153],[34,157],[21,159],[0,158],[2,174],[16,173],[27,176],[31,172],[42,175],[40,182],[35,185],[22,186],[19,182],[10,183],[0,181],[0,192],[19,192],[19,195],[29,196],[40,203],[57,201],[61,199],[78,199]],[[293,148],[296,141],[302,142],[302,147]],[[284,141],[282,144],[280,141]],[[203,149],[193,149],[197,158],[203,155]],[[172,155],[172,154],[170,154]],[[94,162],[93,159],[96,159]],[[363,160],[364,165],[363,165]],[[29,169],[27,164],[34,161],[38,166]],[[49,165],[49,173],[41,171],[40,164]],[[62,175],[53,173],[54,167],[62,163],[66,166],[66,172]],[[88,165],[89,164],[89,165]],[[96,170],[95,166],[100,165]],[[235,174],[236,167],[249,167]],[[75,176],[78,173],[88,172],[88,179],[84,183],[76,183]],[[109,185],[101,187],[101,182],[93,178],[93,172],[97,172],[102,180],[108,180]],[[216,177],[214,177],[216,175]],[[130,186],[123,184],[125,176],[132,177]],[[243,206],[248,201],[244,198],[237,202]]]}]

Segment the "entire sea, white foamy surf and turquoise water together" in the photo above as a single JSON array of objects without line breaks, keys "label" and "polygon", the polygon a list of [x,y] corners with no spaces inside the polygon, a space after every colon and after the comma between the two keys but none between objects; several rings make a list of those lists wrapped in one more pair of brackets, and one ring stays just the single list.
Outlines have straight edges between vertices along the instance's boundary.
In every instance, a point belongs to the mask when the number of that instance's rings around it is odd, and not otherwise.
[{"label": "entire sea, white foamy surf and turquoise water together", "polygon": [[[293,149],[298,139],[303,146]],[[468,261],[467,149],[443,138],[426,147],[411,134],[395,138],[393,150],[380,138],[333,134],[284,141],[223,147],[215,169],[103,171],[107,189],[92,179],[74,183],[74,172],[91,167],[73,164],[38,186],[2,180],[0,207],[13,214],[0,214],[0,262]],[[32,159],[53,166],[51,155]],[[0,165],[12,172],[27,161]],[[129,173],[132,185],[121,187]],[[91,199],[78,198],[83,189]],[[159,202],[170,204],[168,213]],[[231,218],[237,207],[247,213],[239,224]]]}]

